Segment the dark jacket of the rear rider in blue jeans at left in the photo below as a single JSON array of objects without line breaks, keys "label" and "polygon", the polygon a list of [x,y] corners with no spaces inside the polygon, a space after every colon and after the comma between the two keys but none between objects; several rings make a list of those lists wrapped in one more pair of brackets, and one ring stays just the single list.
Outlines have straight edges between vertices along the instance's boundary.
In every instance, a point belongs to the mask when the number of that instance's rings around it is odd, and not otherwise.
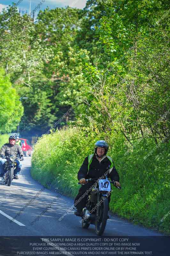
[{"label": "dark jacket of the rear rider in blue jeans at left", "polygon": [[17,155],[19,154],[19,156],[23,156],[23,152],[22,152],[22,148],[15,144],[15,145],[11,145],[10,143],[6,143],[2,146],[2,148],[0,149],[0,156],[11,156],[14,155],[15,157],[17,157]]}]

